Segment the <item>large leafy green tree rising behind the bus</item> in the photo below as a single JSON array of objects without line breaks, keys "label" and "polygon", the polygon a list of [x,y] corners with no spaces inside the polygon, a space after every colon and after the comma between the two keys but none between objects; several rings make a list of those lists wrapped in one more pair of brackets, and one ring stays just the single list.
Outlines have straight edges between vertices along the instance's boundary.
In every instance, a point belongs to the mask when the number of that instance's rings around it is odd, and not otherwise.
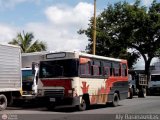
[{"label": "large leafy green tree rising behind the bus", "polygon": [[[151,60],[157,56],[160,48],[159,11],[160,3],[156,1],[153,1],[149,9],[140,6],[140,0],[133,5],[127,2],[109,5],[97,17],[96,54],[114,55],[114,57],[117,57],[115,55],[117,54],[121,57],[122,51],[127,53],[127,49],[131,49],[130,55],[134,58],[132,63],[142,56],[145,61],[145,72],[149,75]],[[93,18],[90,20],[88,29],[79,31],[88,36],[89,51],[92,50],[92,22]],[[126,56],[128,57],[128,54]]]}]

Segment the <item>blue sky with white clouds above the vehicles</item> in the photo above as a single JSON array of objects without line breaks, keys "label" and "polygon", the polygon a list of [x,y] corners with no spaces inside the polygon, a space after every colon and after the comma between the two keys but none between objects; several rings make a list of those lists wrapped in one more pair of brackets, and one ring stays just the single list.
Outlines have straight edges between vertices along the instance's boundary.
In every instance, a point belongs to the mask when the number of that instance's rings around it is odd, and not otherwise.
[{"label": "blue sky with white clouds above the vehicles", "polygon": [[[120,0],[96,1],[98,14]],[[142,0],[141,4],[149,6],[152,1]],[[32,32],[34,40],[44,41],[49,51],[84,51],[88,39],[77,31],[88,27],[93,3],[94,0],[0,0],[0,43],[8,43],[24,31]]]}]

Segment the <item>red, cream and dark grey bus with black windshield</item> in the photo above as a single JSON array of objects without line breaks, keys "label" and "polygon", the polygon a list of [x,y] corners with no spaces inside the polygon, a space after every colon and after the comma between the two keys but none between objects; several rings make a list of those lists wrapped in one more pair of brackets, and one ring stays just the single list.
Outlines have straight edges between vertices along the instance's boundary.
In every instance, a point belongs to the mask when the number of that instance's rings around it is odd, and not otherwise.
[{"label": "red, cream and dark grey bus with black windshield", "polygon": [[82,52],[46,54],[40,61],[38,94],[48,109],[76,106],[83,111],[92,104],[128,97],[127,61]]}]

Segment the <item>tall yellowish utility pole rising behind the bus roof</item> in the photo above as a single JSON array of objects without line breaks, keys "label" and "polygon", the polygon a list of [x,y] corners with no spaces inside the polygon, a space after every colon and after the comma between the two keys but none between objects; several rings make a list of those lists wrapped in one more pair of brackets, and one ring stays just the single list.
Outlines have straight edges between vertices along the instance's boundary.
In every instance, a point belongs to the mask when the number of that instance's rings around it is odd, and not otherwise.
[{"label": "tall yellowish utility pole rising behind the bus roof", "polygon": [[94,0],[94,17],[93,17],[93,55],[96,54],[96,0]]}]

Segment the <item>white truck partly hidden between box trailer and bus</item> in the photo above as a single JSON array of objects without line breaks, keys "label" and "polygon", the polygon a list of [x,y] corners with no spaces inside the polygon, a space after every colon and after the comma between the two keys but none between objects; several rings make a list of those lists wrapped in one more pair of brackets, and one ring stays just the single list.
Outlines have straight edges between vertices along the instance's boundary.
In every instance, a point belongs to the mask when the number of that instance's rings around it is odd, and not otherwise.
[{"label": "white truck partly hidden between box trailer and bus", "polygon": [[39,61],[46,52],[22,53],[22,96],[20,99],[34,99],[37,94]]}]

